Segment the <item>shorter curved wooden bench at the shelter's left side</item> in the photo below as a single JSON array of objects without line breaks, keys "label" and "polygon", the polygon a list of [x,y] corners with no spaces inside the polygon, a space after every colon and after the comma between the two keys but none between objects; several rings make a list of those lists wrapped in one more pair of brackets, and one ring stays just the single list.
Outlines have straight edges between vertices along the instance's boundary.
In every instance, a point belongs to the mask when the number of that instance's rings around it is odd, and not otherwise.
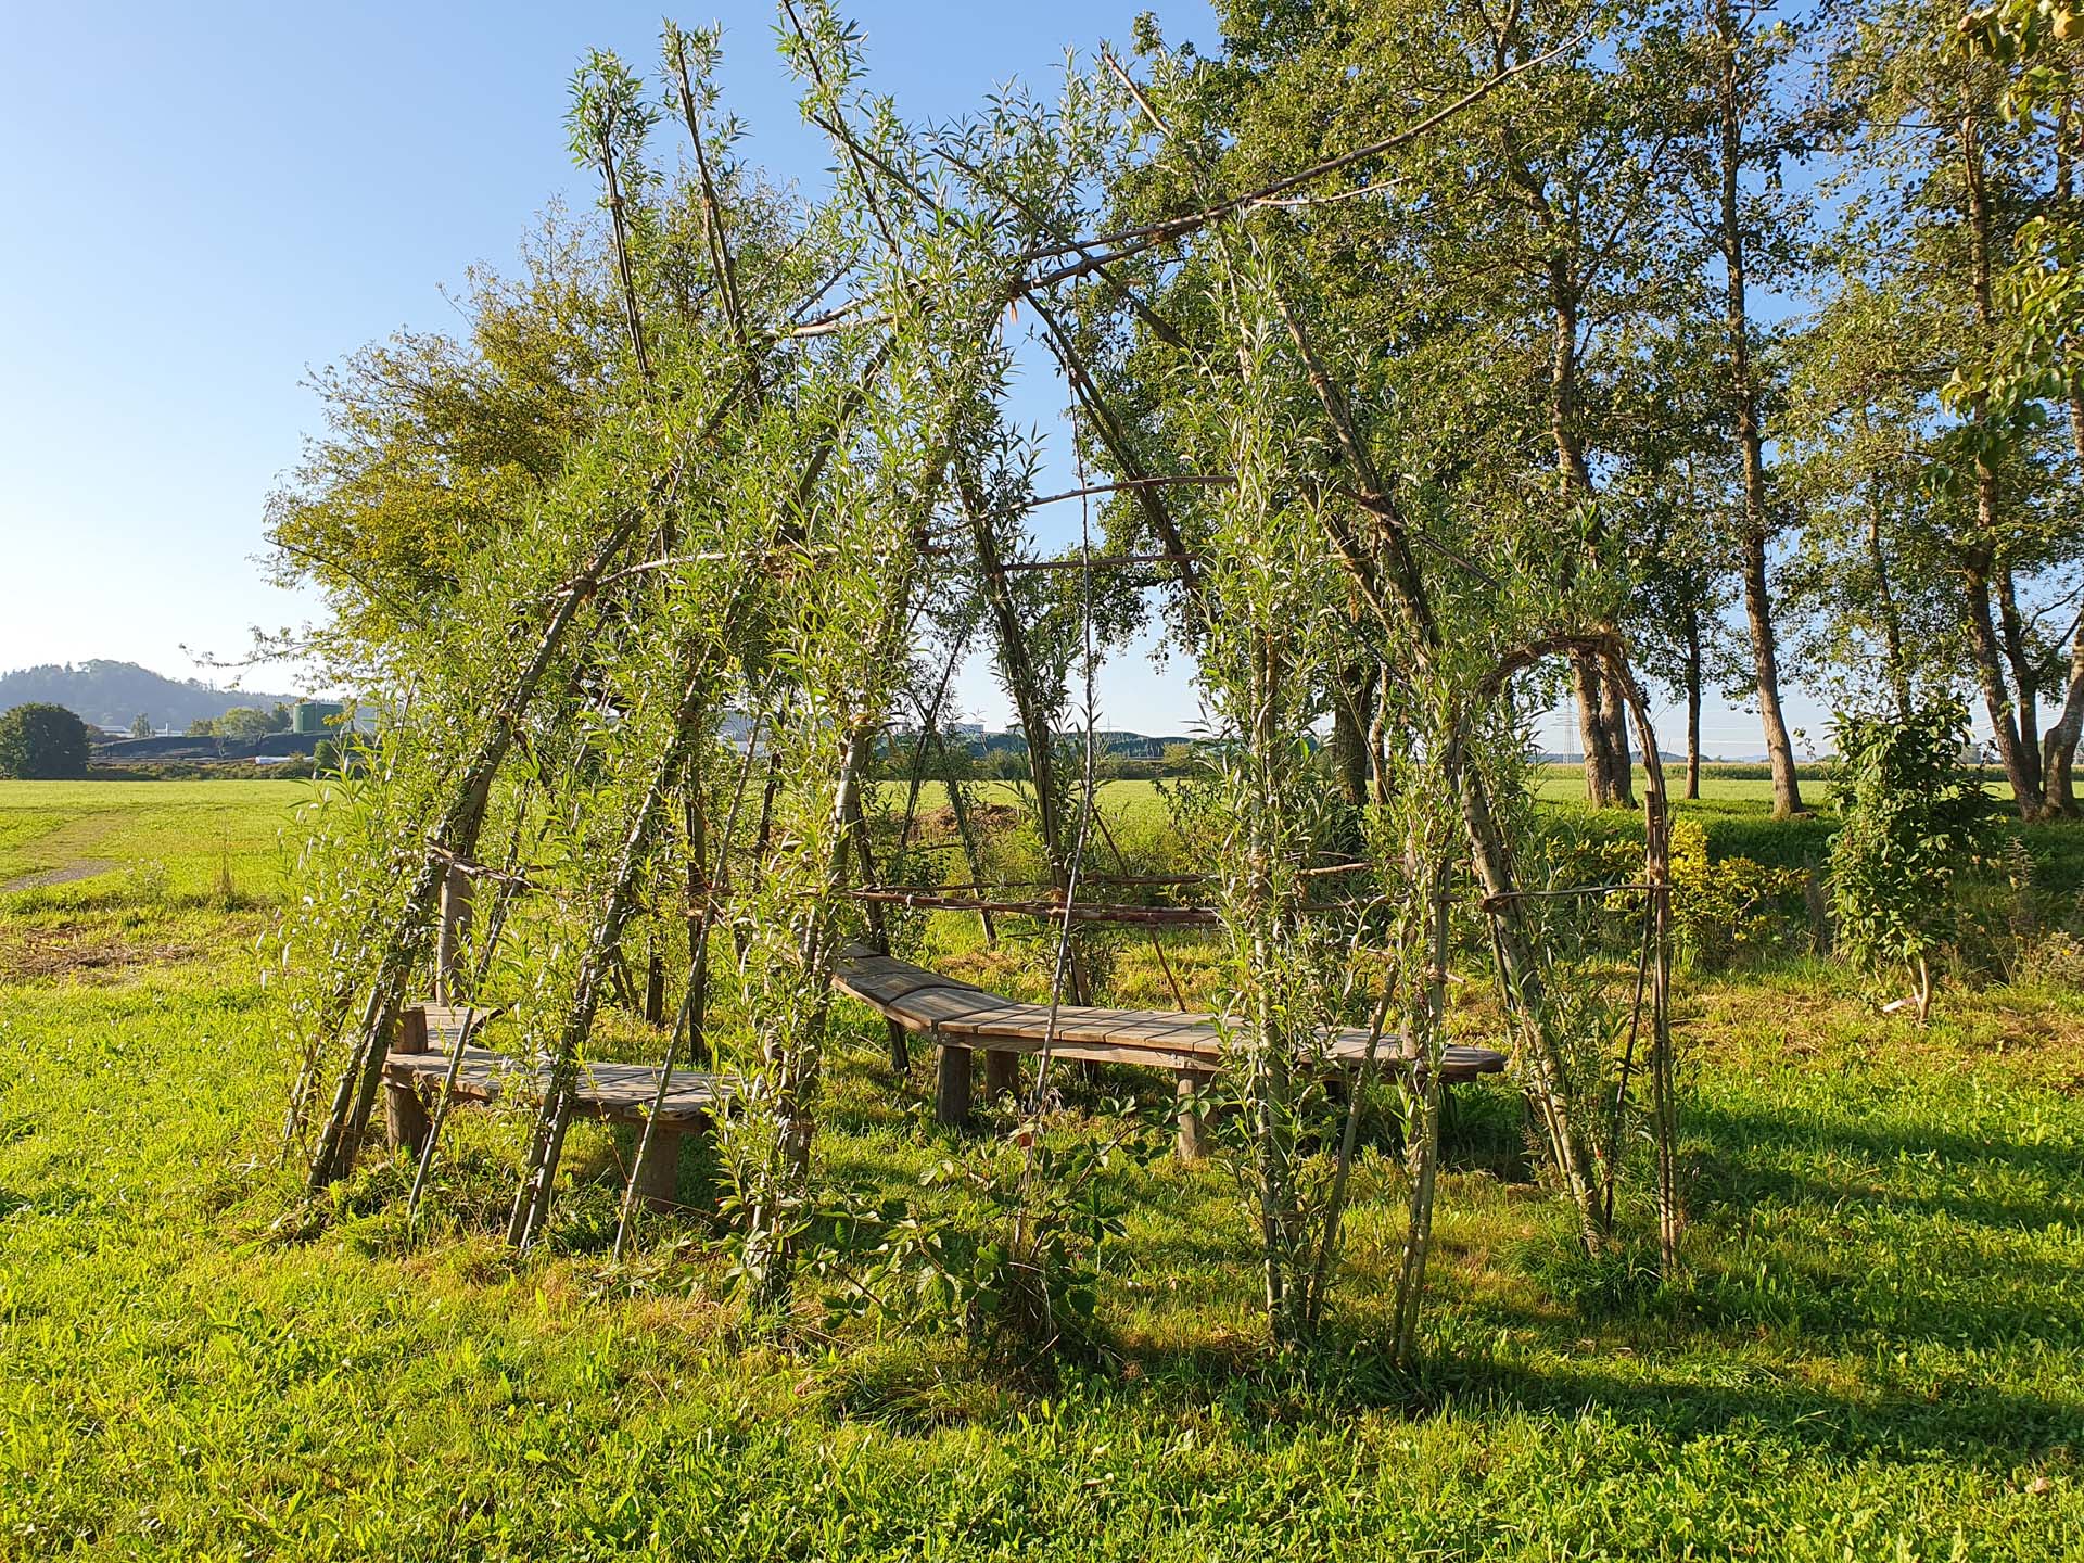
[{"label": "shorter curved wooden bench at the shelter's left side", "polygon": [[[383,1059],[383,1119],[392,1144],[415,1155],[433,1127],[429,1109],[442,1098],[442,1082],[465,1032],[483,1025],[490,1011],[450,1004],[413,1004],[398,1015],[396,1046]],[[456,1069],[454,1105],[483,1107],[519,1094],[542,1100],[550,1088],[548,1065],[521,1065],[504,1052],[463,1046]],[[721,1075],[675,1069],[659,1105],[659,1127],[638,1167],[638,1192],[654,1207],[673,1205],[679,1142],[686,1134],[709,1134],[717,1102],[729,1084]],[[642,1063],[581,1063],[573,1111],[606,1123],[636,1123],[650,1117],[659,1094],[659,1071]]]}]

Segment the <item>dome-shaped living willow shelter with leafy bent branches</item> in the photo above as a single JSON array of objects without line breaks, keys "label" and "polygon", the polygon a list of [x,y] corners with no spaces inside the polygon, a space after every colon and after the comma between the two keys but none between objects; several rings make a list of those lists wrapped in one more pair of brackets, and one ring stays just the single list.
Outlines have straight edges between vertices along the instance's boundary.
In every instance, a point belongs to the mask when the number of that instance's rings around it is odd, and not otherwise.
[{"label": "dome-shaped living willow shelter with leafy bent branches", "polygon": [[[350,1175],[386,1086],[400,1138],[421,1142],[415,1200],[448,1109],[506,1094],[531,1115],[508,1221],[527,1248],[575,1117],[640,1125],[625,1227],[656,1194],[652,1138],[700,1123],[748,1309],[786,1311],[821,1202],[823,1046],[846,990],[890,1023],[892,1063],[907,1036],[940,1044],[944,1117],[967,1109],[973,1050],[994,1059],[994,1090],[1015,1080],[1009,1059],[1036,1057],[1019,1090],[1029,1159],[1052,1055],[1155,1063],[1188,1096],[1223,1096],[1277,1340],[1323,1313],[1363,1102],[1386,1075],[1407,1084],[1413,1171],[1398,1353],[1442,1094],[1507,1055],[1588,1246],[1609,1240],[1617,1167],[1651,1130],[1671,1263],[1663,779],[1626,646],[1582,609],[1598,561],[1559,581],[1542,573],[1553,554],[1396,477],[1346,379],[1373,346],[1346,336],[1292,242],[1298,210],[1546,56],[1415,104],[1384,142],[1227,192],[1167,125],[1167,56],[1140,81],[1107,54],[1055,104],[1009,94],[921,129],[869,94],[859,40],[823,4],[784,0],[779,19],[834,148],[817,200],[736,163],[713,33],[667,29],[656,94],[613,56],[579,73],[602,369],[554,481],[471,552],[438,611],[394,629],[371,777],[315,819],[315,894],[286,950],[306,1048],[288,1140],[311,1190]],[[1161,210],[1102,194],[1123,160],[1165,173]],[[1036,492],[1034,440],[1007,417],[1013,323],[1059,371],[1075,490]],[[1048,556],[1032,517],[1055,502],[1084,523]],[[1215,850],[1190,909],[1092,896],[1092,669],[1123,594],[1163,598],[1219,727],[1200,817]],[[1046,884],[971,900],[1025,904],[1009,915],[1044,927],[1036,1004],[890,954],[886,913],[946,886],[902,877],[921,773],[898,809],[879,740],[902,715],[932,750],[973,644],[1027,736]],[[1592,1075],[1567,1029],[1580,1011],[1550,1000],[1548,892],[1515,875],[1517,690],[1557,659],[1621,690],[1651,769],[1640,882],[1584,892],[1626,896],[1642,921],[1626,1057]],[[1082,746],[1055,738],[1080,677]],[[1309,734],[1353,688],[1369,738],[1363,786],[1340,798]],[[723,742],[727,721],[750,736]],[[1096,1002],[1084,932],[1167,917],[1219,948],[1221,1015]],[[1457,948],[1490,967],[1500,1048],[1450,1013]],[[504,1011],[500,1057],[469,1019],[417,1007],[427,990]],[[611,1007],[654,1023],[656,1063],[596,1057]],[[400,1025],[450,1046],[398,1046]],[[1184,1138],[1200,1148],[1198,1119]]]}]

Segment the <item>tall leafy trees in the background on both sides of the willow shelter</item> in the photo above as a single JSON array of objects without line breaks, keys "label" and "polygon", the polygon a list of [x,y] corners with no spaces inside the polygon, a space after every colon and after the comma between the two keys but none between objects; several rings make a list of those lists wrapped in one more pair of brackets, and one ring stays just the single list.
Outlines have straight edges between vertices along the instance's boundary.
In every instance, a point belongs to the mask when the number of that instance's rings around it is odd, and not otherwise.
[{"label": "tall leafy trees in the background on both sides of the willow shelter", "polygon": [[[1759,713],[1776,811],[1805,807],[1784,715],[1801,686],[1859,711],[1967,696],[2019,813],[2076,813],[2084,411],[2051,308],[2078,131],[2055,21],[1963,25],[1936,0],[1290,0],[1219,21],[1209,56],[1138,23],[1196,156],[1192,175],[1119,160],[1123,223],[1188,208],[1192,181],[1250,190],[1338,158],[1538,65],[1353,163],[1344,188],[1269,206],[1336,296],[1367,365],[1353,394],[1394,427],[1400,475],[1546,550],[1561,590],[1611,594],[1584,611],[1684,704],[1688,794],[1723,690]],[[425,613],[592,425],[623,321],[611,271],[598,233],[546,219],[517,275],[471,273],[465,336],[406,331],[319,375],[329,427],[273,498],[271,536],[281,573],[329,592],[346,661],[383,638],[361,631]],[[1119,327],[1125,373],[1207,313],[1163,248],[1111,275],[1157,300],[1094,323]],[[1163,390],[1138,398],[1159,411]],[[1157,427],[1094,461],[1159,471]],[[1111,496],[1111,542],[1163,554],[1157,508]],[[1159,573],[1113,584],[1117,640]],[[1355,665],[1330,700],[1355,798],[1371,677]],[[1619,692],[1584,656],[1559,681],[1588,800],[1630,804]]]}]

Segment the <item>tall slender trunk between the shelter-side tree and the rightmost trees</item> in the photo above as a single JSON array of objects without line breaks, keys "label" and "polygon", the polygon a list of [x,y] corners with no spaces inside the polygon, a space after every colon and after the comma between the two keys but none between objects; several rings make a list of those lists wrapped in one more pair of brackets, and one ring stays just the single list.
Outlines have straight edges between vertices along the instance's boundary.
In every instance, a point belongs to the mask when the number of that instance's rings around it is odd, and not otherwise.
[{"label": "tall slender trunk between the shelter-side tree and the rightmost trees", "polygon": [[1721,35],[1721,260],[1728,283],[1723,327],[1730,348],[1730,400],[1744,458],[1744,619],[1751,625],[1751,654],[1757,671],[1759,723],[1765,727],[1765,756],[1773,767],[1773,817],[1786,819],[1803,807],[1794,777],[1794,744],[1780,711],[1780,652],[1773,642],[1773,598],[1765,579],[1765,542],[1771,515],[1765,494],[1765,438],[1759,427],[1759,386],[1751,363],[1751,302],[1744,277],[1744,225],[1738,210],[1738,171],[1744,160],[1744,108],[1738,94],[1738,35],[1730,0],[1715,0],[1715,29]]}]

